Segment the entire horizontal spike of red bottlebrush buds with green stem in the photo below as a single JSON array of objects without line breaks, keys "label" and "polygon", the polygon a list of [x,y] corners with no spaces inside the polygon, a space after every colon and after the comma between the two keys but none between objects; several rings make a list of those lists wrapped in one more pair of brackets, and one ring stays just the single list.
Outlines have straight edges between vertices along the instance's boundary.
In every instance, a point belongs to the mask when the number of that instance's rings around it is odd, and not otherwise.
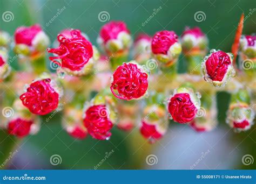
[{"label": "entire horizontal spike of red bottlebrush buds with green stem", "polygon": [[[215,94],[219,90],[231,94],[228,125],[236,131],[253,125],[254,110],[245,86],[255,93],[251,82],[255,72],[247,75],[239,71],[232,53],[211,49],[206,55],[208,38],[199,27],[186,27],[180,37],[168,30],[153,37],[138,34],[132,45],[126,24],[114,21],[102,26],[97,41],[104,51],[101,56],[80,30],[60,31],[55,48],[48,48],[50,41],[41,26],[18,27],[12,45],[22,71],[14,72],[9,58],[10,36],[0,31],[0,89],[16,91],[10,96],[4,93],[11,100],[0,99],[1,108],[14,109],[14,115],[4,118],[0,127],[22,138],[38,132],[39,116],[48,115],[49,122],[63,110],[63,129],[75,139],[91,136],[108,140],[117,125],[124,131],[139,127],[141,135],[154,143],[163,138],[172,121],[190,125],[197,132],[215,128]],[[135,60],[129,61],[131,46]],[[47,68],[46,50],[53,54],[49,56],[51,70]],[[240,38],[240,51],[241,62],[252,61],[254,71],[255,35]],[[177,70],[181,52],[186,74]],[[5,82],[7,85],[1,85]],[[171,91],[172,95],[166,96]]]}]

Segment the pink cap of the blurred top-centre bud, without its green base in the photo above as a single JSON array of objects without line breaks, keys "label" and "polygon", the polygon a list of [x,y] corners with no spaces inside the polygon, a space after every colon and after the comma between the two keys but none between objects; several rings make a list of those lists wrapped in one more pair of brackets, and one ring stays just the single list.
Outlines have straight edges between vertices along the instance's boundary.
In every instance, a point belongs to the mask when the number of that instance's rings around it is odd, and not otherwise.
[{"label": "pink cap of the blurred top-centre bud, without its green base", "polygon": [[118,34],[121,32],[125,32],[130,34],[130,31],[127,29],[126,24],[121,21],[112,21],[104,26],[99,31],[100,38],[103,39],[104,43],[106,44],[107,41],[111,39],[117,39]]}]

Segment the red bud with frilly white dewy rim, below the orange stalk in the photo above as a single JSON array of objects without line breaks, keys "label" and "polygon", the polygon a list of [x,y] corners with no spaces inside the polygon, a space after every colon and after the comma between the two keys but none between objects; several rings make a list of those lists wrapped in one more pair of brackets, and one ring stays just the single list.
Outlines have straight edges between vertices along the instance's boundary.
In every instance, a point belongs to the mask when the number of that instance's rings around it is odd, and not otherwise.
[{"label": "red bud with frilly white dewy rim, below the orange stalk", "polygon": [[213,86],[225,86],[230,78],[235,76],[232,61],[233,54],[212,49],[202,63],[204,79]]}]

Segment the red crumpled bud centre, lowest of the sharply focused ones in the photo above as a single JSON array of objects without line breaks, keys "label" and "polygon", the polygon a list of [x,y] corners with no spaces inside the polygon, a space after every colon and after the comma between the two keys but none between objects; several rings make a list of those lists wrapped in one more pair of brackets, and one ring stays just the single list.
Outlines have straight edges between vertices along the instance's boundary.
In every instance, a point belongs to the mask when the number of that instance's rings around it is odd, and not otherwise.
[{"label": "red crumpled bud centre, lowest of the sharply focused ones", "polygon": [[113,123],[106,112],[106,105],[93,105],[85,111],[84,125],[95,139],[105,140],[111,136]]}]

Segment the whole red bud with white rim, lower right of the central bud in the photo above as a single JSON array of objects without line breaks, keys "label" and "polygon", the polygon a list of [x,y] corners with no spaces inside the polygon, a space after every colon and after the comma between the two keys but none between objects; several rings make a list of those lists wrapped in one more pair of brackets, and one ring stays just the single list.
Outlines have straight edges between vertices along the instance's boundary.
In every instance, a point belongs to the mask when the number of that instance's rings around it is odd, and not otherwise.
[{"label": "whole red bud with white rim, lower right of the central bud", "polygon": [[179,87],[169,100],[168,110],[173,121],[191,122],[200,109],[200,95],[190,87]]}]

